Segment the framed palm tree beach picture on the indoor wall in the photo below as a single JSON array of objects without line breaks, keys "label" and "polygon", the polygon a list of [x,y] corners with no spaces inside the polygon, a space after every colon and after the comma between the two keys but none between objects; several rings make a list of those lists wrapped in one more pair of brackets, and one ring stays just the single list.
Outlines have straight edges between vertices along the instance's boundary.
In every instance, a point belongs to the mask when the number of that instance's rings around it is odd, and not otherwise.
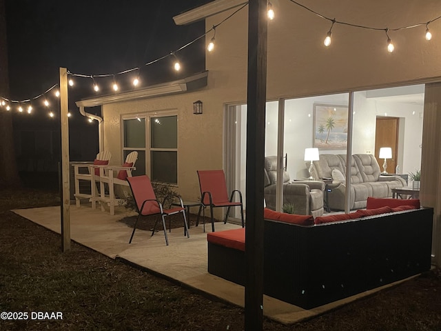
[{"label": "framed palm tree beach picture on the indoor wall", "polygon": [[320,150],[345,150],[348,107],[314,103],[313,147]]}]

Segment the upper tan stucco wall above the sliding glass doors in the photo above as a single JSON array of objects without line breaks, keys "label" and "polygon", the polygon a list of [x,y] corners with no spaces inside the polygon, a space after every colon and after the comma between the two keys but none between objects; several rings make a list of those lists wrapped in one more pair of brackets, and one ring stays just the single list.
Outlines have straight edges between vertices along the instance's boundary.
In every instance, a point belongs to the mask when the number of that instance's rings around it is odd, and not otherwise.
[{"label": "upper tan stucco wall above the sliding glass doors", "polygon": [[[331,23],[288,0],[271,1],[276,12],[268,24],[267,99],[300,97],[372,87],[402,85],[441,76],[440,43],[424,38],[425,26],[389,31],[395,45],[387,52],[384,30],[374,31],[335,24],[331,46],[323,39]],[[389,29],[427,22],[440,14],[439,1],[335,1],[307,3],[311,9],[364,26]],[[206,19],[206,29],[234,10]],[[211,88],[225,101],[245,101],[247,83],[247,12],[240,10],[216,28],[216,48],[207,54]],[[212,38],[207,34],[207,42]]]}]

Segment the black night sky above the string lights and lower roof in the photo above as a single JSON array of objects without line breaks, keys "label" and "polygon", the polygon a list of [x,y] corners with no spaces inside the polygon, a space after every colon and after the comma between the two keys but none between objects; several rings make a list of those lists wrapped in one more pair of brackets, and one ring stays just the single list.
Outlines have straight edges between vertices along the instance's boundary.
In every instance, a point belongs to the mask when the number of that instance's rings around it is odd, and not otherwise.
[{"label": "black night sky above the string lights and lower roof", "polygon": [[[176,26],[172,17],[209,0],[6,0],[10,99],[35,97],[59,82],[59,67],[78,74],[113,74],[141,67],[142,86],[186,77],[205,68],[205,39],[176,53],[183,70],[168,57],[205,32],[204,23]],[[123,85],[127,76],[117,76]],[[91,95],[111,92],[112,78],[75,79],[70,108]]]}]

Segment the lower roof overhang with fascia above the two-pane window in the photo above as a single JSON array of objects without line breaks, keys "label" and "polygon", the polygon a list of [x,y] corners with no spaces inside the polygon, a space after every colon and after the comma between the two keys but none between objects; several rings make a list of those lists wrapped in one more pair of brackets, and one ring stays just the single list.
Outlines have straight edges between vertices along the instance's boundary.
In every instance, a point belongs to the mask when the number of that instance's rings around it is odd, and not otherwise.
[{"label": "lower roof overhang with fascia above the two-pane window", "polygon": [[122,92],[119,94],[108,94],[102,97],[83,99],[80,101],[76,101],[75,104],[79,108],[85,108],[101,106],[105,105],[106,103],[147,99],[167,94],[189,92],[207,86],[207,77],[208,71],[204,71],[184,79],[179,79],[178,81],[170,81],[167,83],[152,85],[148,88],[143,88],[142,90],[134,90],[130,92]]}]

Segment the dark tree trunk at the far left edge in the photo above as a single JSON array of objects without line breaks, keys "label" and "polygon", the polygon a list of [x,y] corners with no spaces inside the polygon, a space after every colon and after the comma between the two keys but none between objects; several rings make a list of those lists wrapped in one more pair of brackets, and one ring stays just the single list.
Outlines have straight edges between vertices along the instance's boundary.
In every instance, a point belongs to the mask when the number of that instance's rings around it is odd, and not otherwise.
[{"label": "dark tree trunk at the far left edge", "polygon": [[[0,96],[9,97],[5,0],[0,0]],[[15,185],[20,185],[20,179],[15,162],[12,114],[0,105],[0,188]]]}]

